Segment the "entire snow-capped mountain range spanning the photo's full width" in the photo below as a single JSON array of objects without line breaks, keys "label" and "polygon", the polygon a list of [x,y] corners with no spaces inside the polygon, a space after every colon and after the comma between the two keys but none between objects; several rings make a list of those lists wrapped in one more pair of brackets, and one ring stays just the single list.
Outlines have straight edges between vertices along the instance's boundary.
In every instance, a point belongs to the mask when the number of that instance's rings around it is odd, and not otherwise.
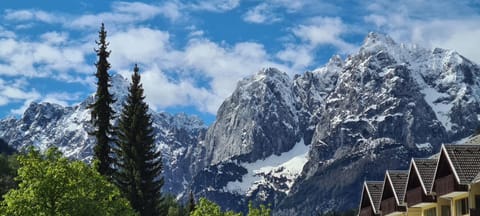
[{"label": "entire snow-capped mountain range spanning the photo's full width", "polygon": [[[208,128],[195,117],[152,112],[165,191],[192,190],[234,210],[269,203],[275,215],[357,207],[364,179],[474,133],[479,77],[480,67],[455,51],[376,33],[347,59],[333,56],[293,78],[263,69],[238,83]],[[113,77],[117,112],[126,85]],[[0,137],[88,160],[90,102],[33,103],[22,118],[0,121]]]}]

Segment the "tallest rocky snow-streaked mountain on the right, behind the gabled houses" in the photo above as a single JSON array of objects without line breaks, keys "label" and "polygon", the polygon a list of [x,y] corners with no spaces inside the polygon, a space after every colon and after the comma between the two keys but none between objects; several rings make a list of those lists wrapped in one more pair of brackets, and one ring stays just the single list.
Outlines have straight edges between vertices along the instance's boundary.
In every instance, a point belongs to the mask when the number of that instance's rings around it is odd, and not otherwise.
[{"label": "tallest rocky snow-streaked mountain on the right, behind the gabled houses", "polygon": [[454,51],[369,34],[319,106],[309,161],[277,214],[354,208],[363,179],[380,180],[386,169],[407,168],[411,157],[471,135],[479,75],[478,65]]}]

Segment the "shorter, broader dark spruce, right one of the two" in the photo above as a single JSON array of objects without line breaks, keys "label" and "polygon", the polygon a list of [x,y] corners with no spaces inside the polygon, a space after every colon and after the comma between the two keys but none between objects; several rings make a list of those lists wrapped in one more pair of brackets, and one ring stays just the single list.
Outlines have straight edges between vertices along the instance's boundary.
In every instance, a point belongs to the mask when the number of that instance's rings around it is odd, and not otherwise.
[{"label": "shorter, broader dark spruce, right one of the two", "polygon": [[142,216],[160,215],[162,160],[156,151],[151,116],[135,64],[118,124],[115,182]]}]

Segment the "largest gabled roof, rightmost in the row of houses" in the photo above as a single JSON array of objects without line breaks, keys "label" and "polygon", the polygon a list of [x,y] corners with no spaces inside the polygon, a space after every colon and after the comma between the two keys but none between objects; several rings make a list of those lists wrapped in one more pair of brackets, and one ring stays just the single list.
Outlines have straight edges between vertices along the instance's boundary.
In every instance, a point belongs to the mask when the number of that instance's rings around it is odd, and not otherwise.
[{"label": "largest gabled roof, rightmost in the row of houses", "polygon": [[[476,179],[480,172],[479,145],[442,145],[440,157],[442,153],[446,156],[459,184],[468,185]],[[440,158],[435,168],[435,176],[439,162]]]}]

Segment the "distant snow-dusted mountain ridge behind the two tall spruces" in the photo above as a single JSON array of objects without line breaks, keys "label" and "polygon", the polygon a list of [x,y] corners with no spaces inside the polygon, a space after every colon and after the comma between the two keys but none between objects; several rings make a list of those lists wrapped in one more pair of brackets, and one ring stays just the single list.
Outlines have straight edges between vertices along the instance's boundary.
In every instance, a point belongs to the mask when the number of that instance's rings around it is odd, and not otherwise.
[{"label": "distant snow-dusted mountain ridge behind the two tall spruces", "polygon": [[[117,115],[128,94],[129,83],[120,75],[112,77],[112,90],[117,102],[113,105]],[[51,103],[32,103],[19,119],[0,121],[0,137],[21,149],[35,146],[39,149],[57,146],[68,157],[90,161],[94,137],[87,106],[93,97],[73,107]],[[163,155],[165,177],[164,191],[179,194],[191,181],[189,152],[193,151],[207,126],[197,117],[185,114],[151,112],[156,143]]]}]

